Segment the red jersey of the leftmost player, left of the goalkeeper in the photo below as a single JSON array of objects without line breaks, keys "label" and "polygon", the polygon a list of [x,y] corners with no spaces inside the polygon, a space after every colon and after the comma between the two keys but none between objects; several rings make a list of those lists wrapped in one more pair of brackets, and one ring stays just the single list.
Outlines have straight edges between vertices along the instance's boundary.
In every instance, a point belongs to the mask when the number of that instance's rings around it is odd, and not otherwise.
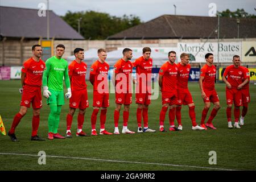
[{"label": "red jersey of the leftmost player, left of the goalkeeper", "polygon": [[22,66],[22,72],[26,73],[24,83],[32,86],[41,86],[44,69],[46,69],[46,63],[42,59],[38,62],[32,57],[26,60]]}]

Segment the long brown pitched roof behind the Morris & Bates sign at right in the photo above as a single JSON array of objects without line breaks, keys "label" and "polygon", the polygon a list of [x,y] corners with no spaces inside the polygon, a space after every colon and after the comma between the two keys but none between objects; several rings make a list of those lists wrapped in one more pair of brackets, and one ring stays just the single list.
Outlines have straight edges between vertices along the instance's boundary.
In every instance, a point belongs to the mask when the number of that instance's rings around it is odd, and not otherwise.
[{"label": "long brown pitched roof behind the Morris & Bates sign at right", "polygon": [[[217,38],[217,17],[162,15],[109,37],[109,39]],[[237,18],[220,17],[220,38],[237,38]],[[256,38],[256,18],[240,18],[240,38]]]}]

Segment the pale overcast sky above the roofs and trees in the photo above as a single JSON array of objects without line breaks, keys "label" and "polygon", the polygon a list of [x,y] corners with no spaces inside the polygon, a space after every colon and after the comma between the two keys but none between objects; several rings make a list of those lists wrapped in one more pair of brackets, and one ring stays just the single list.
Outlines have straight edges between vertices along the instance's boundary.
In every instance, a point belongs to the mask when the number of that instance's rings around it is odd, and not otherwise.
[{"label": "pale overcast sky above the roofs and trees", "polygon": [[[144,22],[163,14],[209,16],[209,4],[215,3],[218,11],[229,9],[245,9],[247,13],[256,14],[255,0],[49,0],[49,9],[57,15],[65,15],[67,11],[93,10],[109,13],[114,16],[136,15]],[[47,0],[0,0],[0,6],[25,7],[38,9],[39,3]]]}]

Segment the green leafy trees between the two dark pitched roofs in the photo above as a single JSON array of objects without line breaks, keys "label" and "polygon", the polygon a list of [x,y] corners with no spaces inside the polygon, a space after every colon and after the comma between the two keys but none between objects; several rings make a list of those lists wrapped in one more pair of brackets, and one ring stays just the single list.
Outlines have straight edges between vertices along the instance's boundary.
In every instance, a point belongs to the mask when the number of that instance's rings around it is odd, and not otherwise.
[{"label": "green leafy trees between the two dark pitched roofs", "polygon": [[96,11],[80,11],[75,13],[68,11],[61,18],[75,30],[77,30],[78,20],[81,18],[80,33],[85,39],[92,40],[107,39],[108,36],[141,23],[141,19],[138,16],[123,15],[120,18]]}]

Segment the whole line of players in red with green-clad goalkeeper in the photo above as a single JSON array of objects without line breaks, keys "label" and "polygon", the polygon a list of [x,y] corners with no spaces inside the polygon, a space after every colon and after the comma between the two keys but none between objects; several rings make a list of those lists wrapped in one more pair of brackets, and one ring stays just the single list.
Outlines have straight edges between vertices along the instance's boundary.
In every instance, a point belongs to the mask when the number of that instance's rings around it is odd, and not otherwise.
[{"label": "whole line of players in red with green-clad goalkeeper", "polygon": [[[44,140],[38,136],[38,127],[40,121],[40,108],[42,107],[41,86],[43,82],[43,96],[47,98],[47,104],[50,106],[48,117],[48,139],[65,137],[71,138],[71,125],[75,110],[79,109],[77,117],[77,133],[76,136],[88,136],[82,131],[84,124],[84,114],[89,106],[88,95],[86,89],[85,75],[87,65],[84,60],[84,49],[76,48],[74,50],[75,60],[68,65],[67,61],[62,59],[65,52],[65,46],[59,44],[56,47],[56,55],[49,58],[46,63],[40,59],[42,56],[42,47],[38,44],[32,46],[33,56],[24,62],[22,67],[22,101],[20,102],[20,110],[14,117],[11,129],[8,133],[11,140],[17,141],[15,128],[20,120],[27,113],[28,107],[32,104],[32,135],[31,140]],[[156,132],[148,127],[148,105],[151,103],[151,73],[153,60],[151,59],[151,49],[144,47],[143,55],[131,63],[133,52],[129,48],[123,49],[123,57],[114,65],[113,84],[115,85],[115,110],[114,110],[114,134],[119,134],[118,122],[122,105],[123,109],[123,134],[134,134],[127,128],[129,121],[129,109],[132,101],[130,82],[136,84],[136,104],[137,107],[137,123],[138,133]],[[91,115],[92,133],[97,135],[96,121],[97,114],[100,112],[100,134],[112,135],[105,129],[106,112],[109,107],[109,86],[108,86],[108,71],[109,65],[106,63],[107,53],[105,49],[98,49],[98,60],[92,64],[90,68],[90,83],[93,85],[93,113]],[[195,104],[191,93],[188,89],[188,78],[191,65],[189,64],[189,55],[181,53],[180,63],[175,64],[176,52],[168,53],[168,61],[162,65],[159,70],[159,86],[162,92],[162,110],[159,116],[159,131],[165,132],[164,119],[166,112],[169,109],[170,131],[181,131],[181,105],[188,105],[189,117],[192,122],[192,130],[207,130],[216,129],[212,121],[220,109],[220,101],[217,92],[214,88],[216,77],[216,67],[213,65],[213,54],[207,53],[205,60],[207,64],[201,68],[200,74],[200,89],[201,97],[204,101],[204,109],[201,117],[200,126],[196,123]],[[240,57],[233,57],[233,65],[225,69],[223,80],[226,83],[226,114],[228,118],[228,127],[231,129],[231,110],[234,102],[234,127],[240,129],[238,120],[240,117],[240,106],[243,105],[242,117],[240,125],[243,125],[243,119],[247,113],[248,103],[250,102],[249,94],[249,70],[241,67]],[[131,76],[133,67],[136,68],[136,80]],[[146,76],[146,81],[142,79]],[[57,130],[59,127],[59,117],[61,106],[64,105],[63,92],[63,77],[68,92],[65,94],[69,100],[69,112],[67,114],[67,132],[65,137],[61,136]],[[226,78],[227,77],[227,78]],[[125,84],[123,84],[125,82]],[[145,90],[146,88],[146,90]],[[144,90],[143,90],[144,89]],[[143,90],[143,91],[142,91]],[[205,118],[210,107],[210,102],[213,102],[214,107],[210,113],[210,117],[205,123]],[[175,115],[178,127],[175,127]],[[143,129],[142,129],[143,118]]]}]

